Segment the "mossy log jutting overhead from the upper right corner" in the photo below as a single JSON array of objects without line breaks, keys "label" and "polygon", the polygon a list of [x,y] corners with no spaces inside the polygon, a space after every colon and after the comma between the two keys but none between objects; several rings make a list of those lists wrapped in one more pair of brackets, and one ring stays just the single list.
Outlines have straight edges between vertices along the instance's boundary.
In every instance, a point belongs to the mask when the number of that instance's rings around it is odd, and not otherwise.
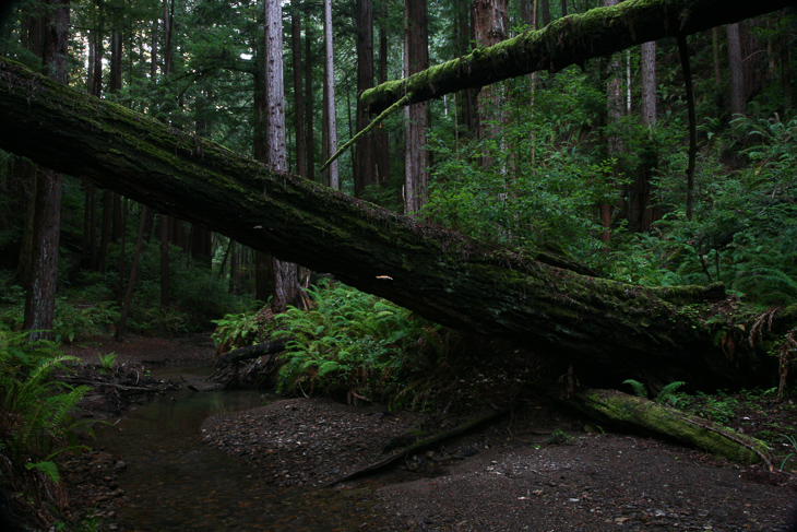
[{"label": "mossy log jutting overhead from the upper right corner", "polygon": [[360,105],[381,113],[405,95],[414,104],[539,70],[559,71],[634,45],[691,35],[792,5],[790,0],[629,0],[554,21],[539,31],[366,91]]}]

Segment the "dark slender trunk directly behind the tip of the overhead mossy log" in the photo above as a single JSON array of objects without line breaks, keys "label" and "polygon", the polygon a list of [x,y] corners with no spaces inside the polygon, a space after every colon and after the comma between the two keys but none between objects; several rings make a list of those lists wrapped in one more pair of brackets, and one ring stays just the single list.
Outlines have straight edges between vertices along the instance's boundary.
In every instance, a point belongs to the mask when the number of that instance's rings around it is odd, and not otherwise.
[{"label": "dark slender trunk directly behind the tip of the overhead mossy log", "polygon": [[[357,0],[357,95],[373,86],[373,0]],[[370,117],[357,106],[357,131],[362,131]],[[354,194],[359,198],[373,184],[373,133],[367,133],[355,145]]]}]

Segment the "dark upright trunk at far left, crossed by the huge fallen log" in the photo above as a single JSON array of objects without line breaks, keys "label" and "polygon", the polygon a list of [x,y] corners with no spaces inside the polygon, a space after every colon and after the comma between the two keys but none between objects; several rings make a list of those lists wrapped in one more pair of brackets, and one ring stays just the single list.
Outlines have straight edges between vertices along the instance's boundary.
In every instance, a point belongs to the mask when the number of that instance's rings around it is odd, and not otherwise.
[{"label": "dark upright trunk at far left, crossed by the huge fallen log", "polygon": [[[69,0],[46,3],[43,21],[44,46],[41,62],[47,75],[66,85],[69,54]],[[61,233],[61,174],[39,169],[36,175],[31,275],[25,297],[23,327],[32,331],[31,340],[52,338],[56,311],[58,244]]]}]

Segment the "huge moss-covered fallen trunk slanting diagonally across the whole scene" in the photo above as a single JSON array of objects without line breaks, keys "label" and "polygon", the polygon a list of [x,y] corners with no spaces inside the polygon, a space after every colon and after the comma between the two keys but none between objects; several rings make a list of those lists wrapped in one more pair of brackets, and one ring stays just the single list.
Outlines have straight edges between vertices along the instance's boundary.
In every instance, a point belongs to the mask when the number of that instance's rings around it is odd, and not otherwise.
[{"label": "huge moss-covered fallen trunk slanting diagonally across the whole scene", "polygon": [[706,302],[722,298],[719,285],[650,288],[581,275],[566,261],[497,248],[272,172],[4,60],[0,147],[333,272],[431,320],[527,346],[563,368],[572,363],[594,386],[641,371],[690,385],[750,385],[774,373],[758,351],[728,356],[714,346],[715,331],[701,318]]}]

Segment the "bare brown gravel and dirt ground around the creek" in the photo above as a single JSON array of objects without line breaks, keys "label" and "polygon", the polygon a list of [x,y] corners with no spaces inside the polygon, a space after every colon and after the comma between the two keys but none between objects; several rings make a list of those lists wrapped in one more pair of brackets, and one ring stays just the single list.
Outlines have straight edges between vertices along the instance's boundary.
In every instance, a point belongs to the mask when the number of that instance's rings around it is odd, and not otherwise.
[{"label": "bare brown gravel and dirt ground around the creek", "polygon": [[[98,340],[66,351],[87,363],[112,351],[117,363],[133,368],[202,365],[213,357],[212,345],[195,338],[131,339],[123,344]],[[498,399],[493,391],[490,401],[501,404]],[[706,409],[727,406],[727,424],[748,433],[797,423],[793,400],[775,404],[745,399],[701,401]],[[490,410],[487,402],[481,404],[471,417]],[[377,461],[385,447],[450,429],[467,417],[466,411],[448,417],[389,414],[377,405],[300,398],[212,416],[202,437],[257,464],[259,475],[275,484],[309,489]],[[788,450],[781,454],[787,457]],[[774,465],[777,470],[781,461]],[[115,480],[123,468],[102,451],[68,460],[64,478],[74,515],[92,508],[104,529],[128,529],[114,522],[116,509],[126,501]],[[335,489],[356,494],[357,507],[366,508],[352,530],[372,531],[772,532],[786,530],[797,499],[797,480],[790,473],[612,431],[535,398],[515,401],[495,423],[411,456],[392,472]]]}]

